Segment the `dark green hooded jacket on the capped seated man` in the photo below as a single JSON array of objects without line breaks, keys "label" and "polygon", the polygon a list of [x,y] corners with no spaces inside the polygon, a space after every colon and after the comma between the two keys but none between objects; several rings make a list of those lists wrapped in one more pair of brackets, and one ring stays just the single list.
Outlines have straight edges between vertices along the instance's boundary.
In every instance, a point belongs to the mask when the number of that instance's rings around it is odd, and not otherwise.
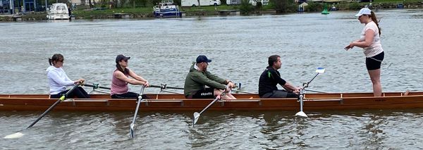
[{"label": "dark green hooded jacket on the capped seated man", "polygon": [[213,75],[209,71],[200,71],[194,68],[195,63],[192,63],[190,73],[185,78],[185,86],[183,93],[185,96],[195,94],[197,91],[204,89],[204,85],[214,89],[225,89],[226,80]]}]

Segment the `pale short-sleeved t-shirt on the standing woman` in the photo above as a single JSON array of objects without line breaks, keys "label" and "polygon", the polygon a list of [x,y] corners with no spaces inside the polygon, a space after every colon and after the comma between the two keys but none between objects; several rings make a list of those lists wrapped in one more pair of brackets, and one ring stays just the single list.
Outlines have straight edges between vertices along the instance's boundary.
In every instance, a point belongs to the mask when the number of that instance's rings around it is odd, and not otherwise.
[{"label": "pale short-sleeved t-shirt on the standing woman", "polygon": [[367,25],[364,26],[364,29],[360,35],[360,40],[365,40],[365,33],[367,30],[373,30],[374,37],[372,44],[370,44],[368,47],[364,47],[363,52],[366,57],[373,57],[377,54],[380,54],[382,51],[384,51],[384,49],[382,49],[381,38],[379,37],[379,28],[377,28],[376,23],[373,21],[367,23]]}]

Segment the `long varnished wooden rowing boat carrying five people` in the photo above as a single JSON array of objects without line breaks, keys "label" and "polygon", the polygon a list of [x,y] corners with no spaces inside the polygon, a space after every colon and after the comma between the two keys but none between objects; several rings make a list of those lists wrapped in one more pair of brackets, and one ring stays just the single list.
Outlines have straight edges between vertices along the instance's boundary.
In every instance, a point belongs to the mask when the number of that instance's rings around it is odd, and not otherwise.
[{"label": "long varnished wooden rowing boat carrying five people", "polygon": [[[140,111],[200,111],[213,99],[185,99],[182,94],[147,94]],[[298,111],[298,99],[259,99],[257,94],[234,94],[238,99],[218,101],[214,111]],[[92,94],[92,99],[67,99],[54,110],[134,111],[136,99],[111,99],[108,94]],[[47,94],[0,94],[0,111],[44,111],[57,99]],[[423,108],[423,92],[305,94],[304,110]]]}]

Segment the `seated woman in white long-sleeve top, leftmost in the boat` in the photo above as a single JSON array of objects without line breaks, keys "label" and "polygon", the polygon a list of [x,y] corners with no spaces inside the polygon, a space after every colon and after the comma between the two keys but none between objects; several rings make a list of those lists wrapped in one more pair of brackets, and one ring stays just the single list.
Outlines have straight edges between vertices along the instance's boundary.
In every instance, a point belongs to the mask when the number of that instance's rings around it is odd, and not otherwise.
[{"label": "seated woman in white long-sleeve top, leftmost in the boat", "polygon": [[[54,54],[51,58],[49,58],[50,66],[46,71],[47,77],[49,78],[50,98],[59,98],[68,92],[69,89],[66,90],[66,86],[76,85],[85,81],[85,79],[82,78],[75,81],[70,80],[62,68],[64,60],[65,59],[61,54]],[[68,94],[69,98],[72,98],[73,96],[80,99],[90,99],[90,95],[87,94],[82,87],[73,89],[73,91]]]}]

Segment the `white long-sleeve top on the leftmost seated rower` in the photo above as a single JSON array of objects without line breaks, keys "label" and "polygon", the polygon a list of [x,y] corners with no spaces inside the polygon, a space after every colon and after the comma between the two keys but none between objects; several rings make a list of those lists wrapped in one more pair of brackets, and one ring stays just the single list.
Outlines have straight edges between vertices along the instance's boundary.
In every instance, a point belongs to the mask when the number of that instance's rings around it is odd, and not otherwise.
[{"label": "white long-sleeve top on the leftmost seated rower", "polygon": [[49,78],[50,94],[58,94],[65,91],[66,86],[75,85],[62,68],[50,65],[46,71]]}]

